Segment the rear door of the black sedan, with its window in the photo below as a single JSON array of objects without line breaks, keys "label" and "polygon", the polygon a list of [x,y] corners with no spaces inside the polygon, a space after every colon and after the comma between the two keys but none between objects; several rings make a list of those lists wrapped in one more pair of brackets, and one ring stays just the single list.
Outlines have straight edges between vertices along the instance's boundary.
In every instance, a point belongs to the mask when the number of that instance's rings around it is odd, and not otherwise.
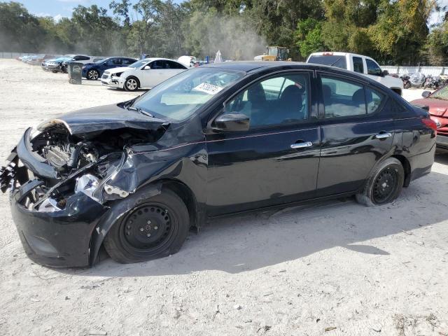
[{"label": "rear door of the black sedan, with its window", "polygon": [[363,186],[374,165],[391,151],[393,114],[381,90],[334,73],[319,73],[321,162],[318,197]]}]

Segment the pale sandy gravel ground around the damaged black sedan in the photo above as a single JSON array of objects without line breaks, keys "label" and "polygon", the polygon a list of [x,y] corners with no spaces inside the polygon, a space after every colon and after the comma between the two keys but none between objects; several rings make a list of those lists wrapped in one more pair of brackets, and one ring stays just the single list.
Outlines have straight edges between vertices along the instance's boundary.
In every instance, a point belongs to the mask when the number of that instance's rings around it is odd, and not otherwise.
[{"label": "pale sandy gravel ground around the damaged black sedan", "polygon": [[[28,125],[131,97],[2,59],[0,162]],[[92,269],[31,262],[0,195],[0,335],[448,335],[448,156],[436,161],[387,206],[221,219],[169,258]]]}]

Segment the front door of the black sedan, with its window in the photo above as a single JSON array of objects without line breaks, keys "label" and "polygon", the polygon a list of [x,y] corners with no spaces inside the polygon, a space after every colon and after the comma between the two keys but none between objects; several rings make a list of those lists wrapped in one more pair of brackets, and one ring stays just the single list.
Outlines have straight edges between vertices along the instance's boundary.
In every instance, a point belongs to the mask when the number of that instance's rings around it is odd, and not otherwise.
[{"label": "front door of the black sedan, with its window", "polygon": [[311,76],[271,76],[225,104],[223,113],[244,113],[251,124],[247,132],[207,136],[211,216],[314,197],[320,135],[310,109]]}]

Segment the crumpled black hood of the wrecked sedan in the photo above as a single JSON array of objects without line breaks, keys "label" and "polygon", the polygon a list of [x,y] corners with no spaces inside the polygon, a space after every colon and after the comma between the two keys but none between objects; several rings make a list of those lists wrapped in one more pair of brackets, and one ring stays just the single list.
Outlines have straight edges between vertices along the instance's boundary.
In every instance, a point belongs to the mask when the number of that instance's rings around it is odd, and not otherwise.
[{"label": "crumpled black hood of the wrecked sedan", "polygon": [[52,125],[63,124],[72,135],[131,128],[135,130],[158,130],[169,123],[158,118],[145,116],[138,111],[122,109],[116,104],[92,107],[63,114],[58,118],[46,120],[37,129],[39,131]]}]

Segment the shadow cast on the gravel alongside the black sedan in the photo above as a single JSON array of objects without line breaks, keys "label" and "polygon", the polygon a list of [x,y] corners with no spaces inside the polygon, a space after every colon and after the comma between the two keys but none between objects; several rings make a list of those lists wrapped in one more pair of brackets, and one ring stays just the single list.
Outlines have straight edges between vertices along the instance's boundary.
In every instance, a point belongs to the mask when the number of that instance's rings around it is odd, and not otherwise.
[{"label": "shadow cast on the gravel alongside the black sedan", "polygon": [[[436,160],[448,162],[448,155],[437,155]],[[411,183],[393,204],[381,207],[363,207],[349,198],[220,218],[199,235],[190,234],[181,251],[167,258],[130,265],[109,258],[91,269],[59,271],[86,276],[156,276],[209,269],[239,273],[306,259],[335,246],[365,255],[388,255],[372,239],[410,237],[402,231],[446,220],[446,186],[448,176],[433,172]]]}]

